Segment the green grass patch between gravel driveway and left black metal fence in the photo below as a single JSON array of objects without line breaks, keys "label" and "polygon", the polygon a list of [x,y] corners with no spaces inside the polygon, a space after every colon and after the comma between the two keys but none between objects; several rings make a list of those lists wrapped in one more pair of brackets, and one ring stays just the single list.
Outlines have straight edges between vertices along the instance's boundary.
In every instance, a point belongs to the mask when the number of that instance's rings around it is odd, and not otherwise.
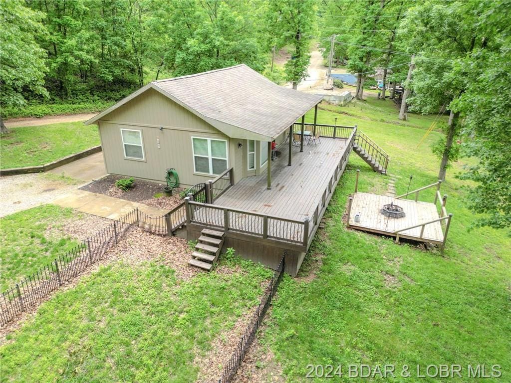
[{"label": "green grass patch between gravel driveway and left black metal fence", "polygon": [[58,226],[73,216],[71,209],[42,205],[0,219],[2,291],[78,245],[69,237],[54,237],[47,232],[49,226]]}]

